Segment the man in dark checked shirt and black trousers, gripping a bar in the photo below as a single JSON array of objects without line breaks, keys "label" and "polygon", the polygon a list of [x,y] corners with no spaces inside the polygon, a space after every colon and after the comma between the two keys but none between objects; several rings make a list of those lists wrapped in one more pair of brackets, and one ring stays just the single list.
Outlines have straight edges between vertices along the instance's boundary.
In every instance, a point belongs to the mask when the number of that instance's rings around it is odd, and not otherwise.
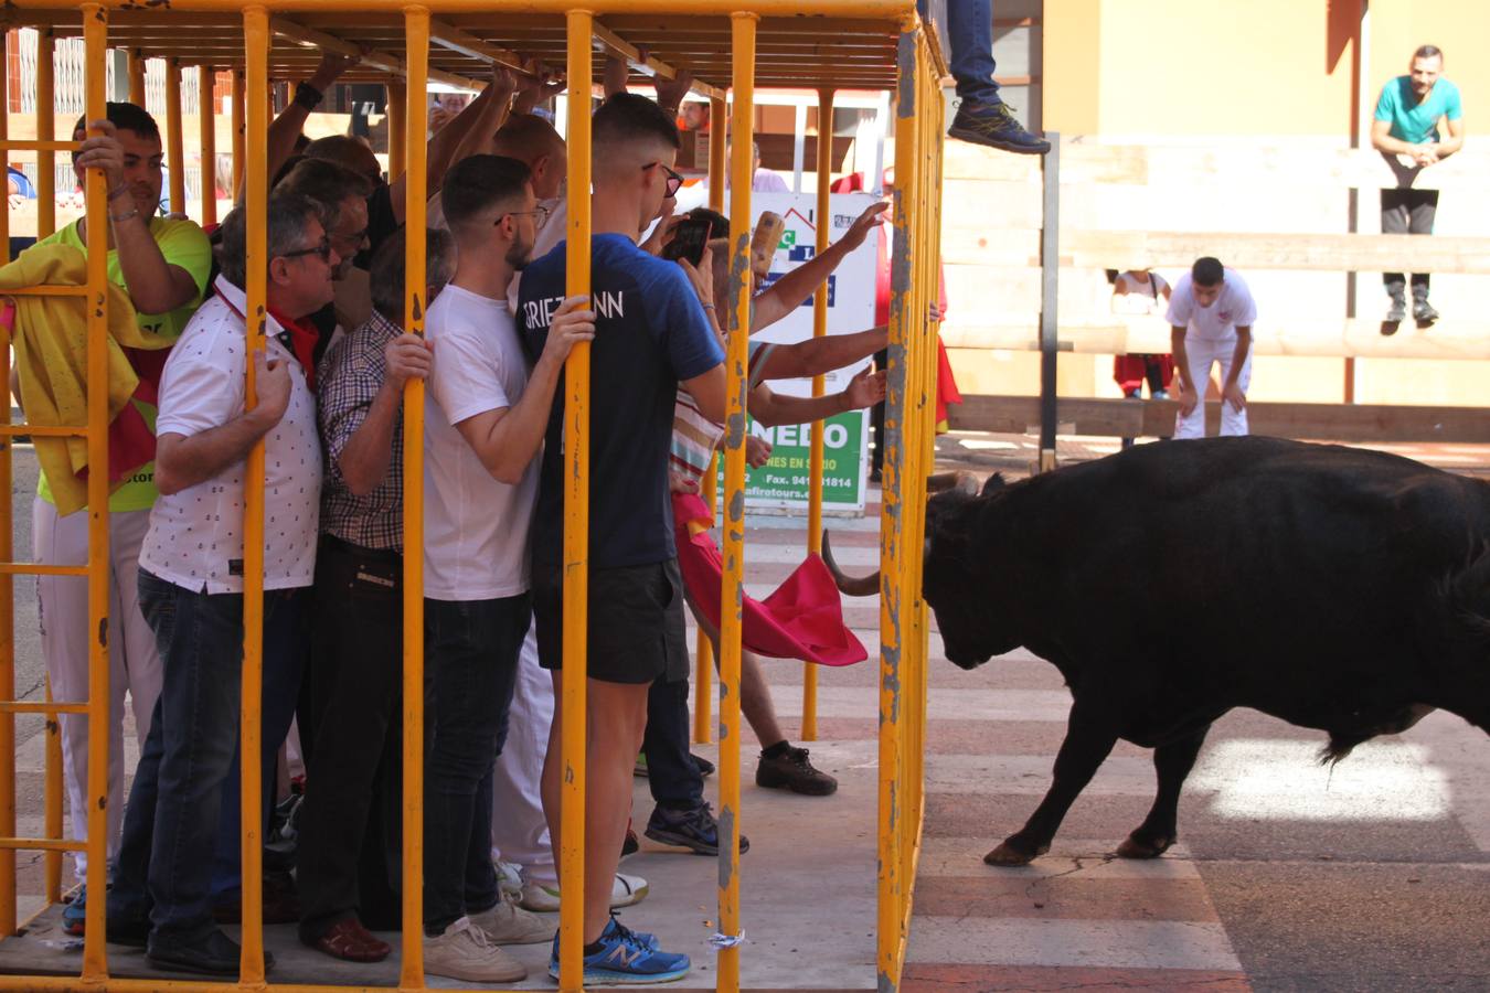
[{"label": "man in dark checked shirt and black trousers, gripping a bar", "polygon": [[[426,259],[428,307],[454,269],[447,232],[429,231]],[[429,342],[401,326],[402,228],[378,247],[371,284],[371,317],[335,342],[319,369],[326,473],[310,686],[317,719],[298,847],[301,941],[352,962],[390,951],[364,917],[381,927],[398,922],[402,396],[408,380],[432,368]],[[374,892],[383,878],[389,884]]]}]

